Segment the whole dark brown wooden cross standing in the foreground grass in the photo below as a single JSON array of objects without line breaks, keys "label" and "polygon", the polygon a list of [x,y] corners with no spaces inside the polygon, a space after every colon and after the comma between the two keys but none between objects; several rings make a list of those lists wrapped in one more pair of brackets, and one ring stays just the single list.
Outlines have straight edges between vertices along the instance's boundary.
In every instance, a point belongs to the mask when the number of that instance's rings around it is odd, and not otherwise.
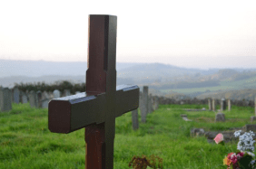
[{"label": "whole dark brown wooden cross standing in the foreground grass", "polygon": [[52,99],[48,127],[70,133],[85,127],[85,169],[113,169],[115,118],[139,106],[136,85],[116,87],[117,16],[89,15],[86,93]]}]

